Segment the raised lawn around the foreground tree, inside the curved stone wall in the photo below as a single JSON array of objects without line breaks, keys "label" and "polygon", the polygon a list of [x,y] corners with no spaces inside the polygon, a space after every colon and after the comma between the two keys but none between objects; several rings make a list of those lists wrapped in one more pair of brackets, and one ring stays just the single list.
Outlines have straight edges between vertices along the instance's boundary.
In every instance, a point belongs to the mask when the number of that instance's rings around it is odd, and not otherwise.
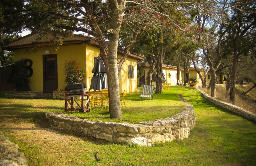
[{"label": "raised lawn around the foreground tree, inside the curved stone wall", "polygon": [[126,107],[122,108],[123,119],[109,118],[108,107],[103,110],[93,107],[90,113],[79,113],[78,111],[62,111],[82,119],[93,119],[107,122],[139,123],[142,121],[170,117],[185,110],[186,106],[180,102],[179,96],[172,92],[154,94],[154,100],[140,101],[140,93],[128,93],[125,101]]}]

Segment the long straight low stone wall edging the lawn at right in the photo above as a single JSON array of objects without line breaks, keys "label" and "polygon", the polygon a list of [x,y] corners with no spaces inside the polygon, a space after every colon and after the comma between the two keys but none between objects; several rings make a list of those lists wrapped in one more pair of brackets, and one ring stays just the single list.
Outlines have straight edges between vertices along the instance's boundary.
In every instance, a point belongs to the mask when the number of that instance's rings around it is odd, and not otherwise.
[{"label": "long straight low stone wall edging the lawn at right", "polygon": [[227,102],[223,102],[220,101],[218,99],[215,99],[214,97],[211,97],[209,94],[205,93],[204,91],[202,91],[201,89],[197,89],[198,91],[200,91],[203,96],[209,100],[210,102],[212,102],[213,104],[219,105],[223,108],[226,108],[232,112],[235,112],[237,115],[241,116],[241,117],[246,117],[254,122],[256,122],[256,114],[247,111],[246,109],[243,109],[241,107],[237,107],[235,105],[232,105],[230,103]]}]

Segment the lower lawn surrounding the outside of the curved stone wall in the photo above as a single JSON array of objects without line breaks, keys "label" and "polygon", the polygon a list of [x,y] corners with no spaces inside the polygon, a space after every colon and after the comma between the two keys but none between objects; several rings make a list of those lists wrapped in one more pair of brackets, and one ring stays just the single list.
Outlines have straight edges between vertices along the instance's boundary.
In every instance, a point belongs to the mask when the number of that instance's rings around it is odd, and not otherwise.
[{"label": "lower lawn surrounding the outside of the curved stone wall", "polygon": [[[120,161],[132,166],[255,165],[255,123],[213,105],[197,90],[172,87],[164,91],[164,94],[168,93],[182,94],[195,108],[196,127],[188,139],[140,147],[96,141],[81,134],[50,128],[43,112],[52,110],[52,107],[54,110],[63,109],[63,106],[56,106],[59,101],[54,100],[34,100],[38,107],[32,110],[33,102],[22,100],[22,103],[17,103],[20,99],[1,98],[0,118],[3,121],[0,121],[0,128],[10,141],[19,145],[31,166],[126,165]],[[154,100],[156,98],[154,95]],[[5,103],[6,100],[10,103]],[[20,107],[20,112],[13,110],[17,107]],[[98,162],[94,157],[97,151],[101,157]]]}]

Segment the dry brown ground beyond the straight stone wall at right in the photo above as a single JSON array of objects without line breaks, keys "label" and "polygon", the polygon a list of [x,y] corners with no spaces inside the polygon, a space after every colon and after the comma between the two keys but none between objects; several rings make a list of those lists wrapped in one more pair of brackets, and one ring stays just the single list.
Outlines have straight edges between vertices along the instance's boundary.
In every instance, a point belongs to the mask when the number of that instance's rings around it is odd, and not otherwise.
[{"label": "dry brown ground beyond the straight stone wall at right", "polygon": [[[252,89],[246,95],[243,93],[246,92],[253,86],[252,83],[245,85],[243,87],[236,87],[236,102],[231,102],[229,98],[230,91],[226,91],[226,87],[216,86],[216,94],[215,98],[224,102],[228,102],[230,104],[236,105],[243,109],[246,109],[254,114],[256,114],[256,88]],[[201,89],[207,94],[211,94],[210,90]]]}]

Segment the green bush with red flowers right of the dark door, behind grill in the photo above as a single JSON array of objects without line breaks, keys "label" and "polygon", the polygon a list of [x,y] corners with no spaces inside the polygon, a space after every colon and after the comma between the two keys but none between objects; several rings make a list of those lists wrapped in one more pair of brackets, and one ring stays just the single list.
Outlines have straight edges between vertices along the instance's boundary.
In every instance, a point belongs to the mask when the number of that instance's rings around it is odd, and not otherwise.
[{"label": "green bush with red flowers right of the dark door, behind grill", "polygon": [[65,61],[64,75],[66,76],[65,82],[67,84],[85,83],[84,81],[84,69],[81,69],[80,65],[76,61]]}]

